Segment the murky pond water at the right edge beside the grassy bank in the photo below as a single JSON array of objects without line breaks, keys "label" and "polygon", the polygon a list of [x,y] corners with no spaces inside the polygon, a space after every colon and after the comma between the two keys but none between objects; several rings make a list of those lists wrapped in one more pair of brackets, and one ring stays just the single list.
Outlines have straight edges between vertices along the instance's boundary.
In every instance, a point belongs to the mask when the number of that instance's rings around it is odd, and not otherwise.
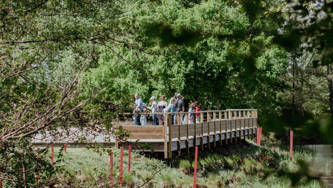
[{"label": "murky pond water at the right edge beside the grassy bank", "polygon": [[324,185],[333,187],[333,145],[305,145],[305,147],[314,149],[318,154],[318,159],[310,163],[310,175],[319,176]]}]

